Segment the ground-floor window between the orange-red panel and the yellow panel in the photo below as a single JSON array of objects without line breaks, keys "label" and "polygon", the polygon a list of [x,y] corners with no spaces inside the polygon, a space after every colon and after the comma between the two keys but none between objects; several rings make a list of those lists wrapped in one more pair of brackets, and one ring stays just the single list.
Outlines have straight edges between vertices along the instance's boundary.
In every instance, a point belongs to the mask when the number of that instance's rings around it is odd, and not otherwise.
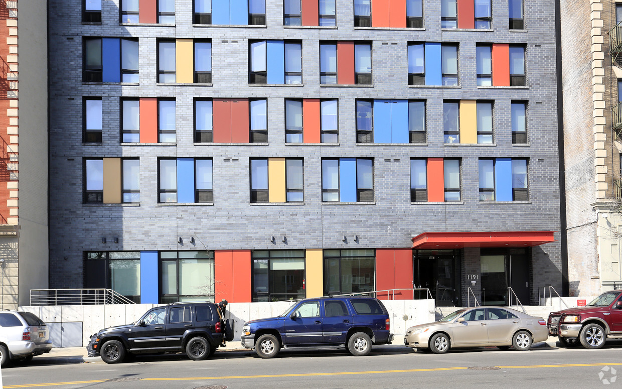
[{"label": "ground-floor window between the orange-red panel and the yellow panel", "polygon": [[304,299],[304,250],[253,250],[253,302]]}]

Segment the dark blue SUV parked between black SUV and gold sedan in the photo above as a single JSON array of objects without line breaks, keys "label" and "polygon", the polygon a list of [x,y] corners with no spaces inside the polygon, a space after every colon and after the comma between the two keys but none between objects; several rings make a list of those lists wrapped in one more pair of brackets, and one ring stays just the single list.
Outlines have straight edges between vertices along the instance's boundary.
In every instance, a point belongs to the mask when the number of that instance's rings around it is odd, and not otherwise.
[{"label": "dark blue SUV parked between black SUV and gold sedan", "polygon": [[242,345],[262,358],[281,347],[345,346],[352,355],[367,355],[373,344],[390,344],[389,313],[378,299],[323,297],[305,299],[277,317],[251,320],[242,329]]}]

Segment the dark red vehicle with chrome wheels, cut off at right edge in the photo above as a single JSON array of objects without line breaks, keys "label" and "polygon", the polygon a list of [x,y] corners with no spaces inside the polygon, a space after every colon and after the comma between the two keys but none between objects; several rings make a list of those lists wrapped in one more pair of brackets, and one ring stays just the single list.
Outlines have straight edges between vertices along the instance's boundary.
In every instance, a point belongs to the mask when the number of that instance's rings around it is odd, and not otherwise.
[{"label": "dark red vehicle with chrome wheels, cut off at right edge", "polygon": [[566,346],[580,342],[600,349],[605,339],[622,338],[622,290],[605,292],[584,307],[551,312],[547,327]]}]

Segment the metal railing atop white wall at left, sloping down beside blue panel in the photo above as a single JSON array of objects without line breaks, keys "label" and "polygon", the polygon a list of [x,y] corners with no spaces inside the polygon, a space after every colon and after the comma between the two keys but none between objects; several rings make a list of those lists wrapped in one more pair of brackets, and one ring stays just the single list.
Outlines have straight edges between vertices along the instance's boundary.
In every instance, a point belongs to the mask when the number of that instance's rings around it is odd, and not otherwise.
[{"label": "metal railing atop white wall at left, sloping down beside blue panel", "polygon": [[30,289],[31,306],[136,304],[112,289]]}]

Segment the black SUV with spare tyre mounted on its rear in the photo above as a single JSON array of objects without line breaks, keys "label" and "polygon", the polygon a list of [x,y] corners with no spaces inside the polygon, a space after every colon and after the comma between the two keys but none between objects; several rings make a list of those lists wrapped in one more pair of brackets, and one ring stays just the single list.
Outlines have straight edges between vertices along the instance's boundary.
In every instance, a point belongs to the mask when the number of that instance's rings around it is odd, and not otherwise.
[{"label": "black SUV with spare tyre mounted on its rear", "polygon": [[185,352],[192,360],[203,360],[223,340],[233,340],[233,324],[213,302],[174,302],[149,309],[132,324],[100,330],[90,347],[106,363],[162,352]]}]

